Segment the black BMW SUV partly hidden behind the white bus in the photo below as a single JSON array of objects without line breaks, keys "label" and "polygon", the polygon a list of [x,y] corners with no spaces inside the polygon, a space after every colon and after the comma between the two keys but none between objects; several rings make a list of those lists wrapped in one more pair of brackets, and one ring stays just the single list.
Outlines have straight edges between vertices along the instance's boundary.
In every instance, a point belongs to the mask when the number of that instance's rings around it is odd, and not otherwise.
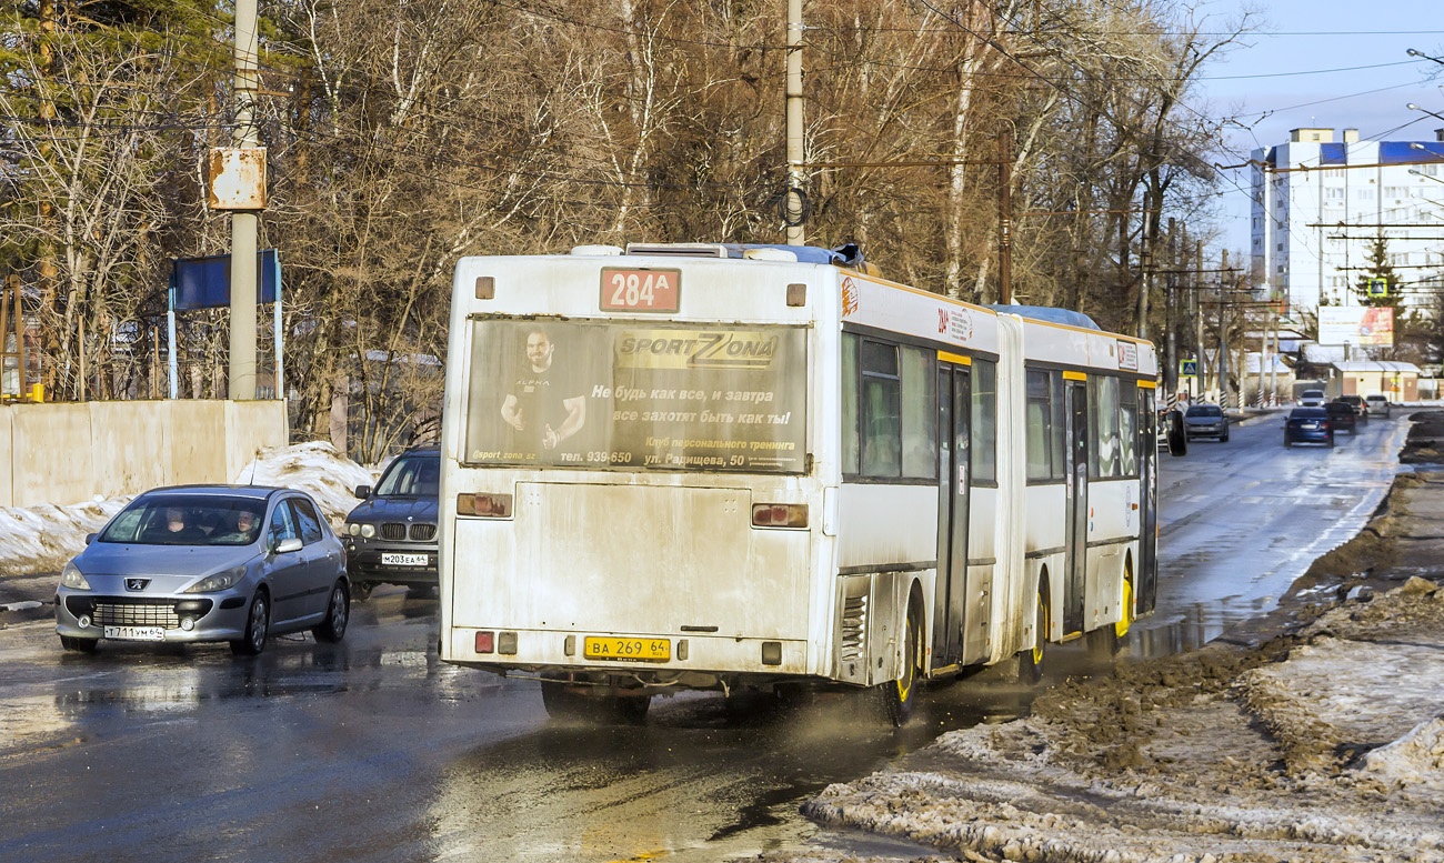
[{"label": "black BMW SUV partly hidden behind the white bus", "polygon": [[387,465],[375,488],[357,486],[362,502],[347,515],[341,535],[352,597],[371,596],[377,584],[436,587],[440,473],[440,450],[409,449]]}]

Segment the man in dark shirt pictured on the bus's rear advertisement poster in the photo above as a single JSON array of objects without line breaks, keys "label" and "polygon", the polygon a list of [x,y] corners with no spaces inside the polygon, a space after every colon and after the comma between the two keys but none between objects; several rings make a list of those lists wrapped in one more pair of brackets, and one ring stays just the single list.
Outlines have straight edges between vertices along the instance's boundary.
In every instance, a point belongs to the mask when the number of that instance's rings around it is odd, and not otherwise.
[{"label": "man in dark shirt pictured on the bus's rear advertisement poster", "polygon": [[553,367],[556,345],[542,328],[526,330],[526,361],[510,381],[501,419],[527,453],[554,450],[586,423],[585,390]]}]

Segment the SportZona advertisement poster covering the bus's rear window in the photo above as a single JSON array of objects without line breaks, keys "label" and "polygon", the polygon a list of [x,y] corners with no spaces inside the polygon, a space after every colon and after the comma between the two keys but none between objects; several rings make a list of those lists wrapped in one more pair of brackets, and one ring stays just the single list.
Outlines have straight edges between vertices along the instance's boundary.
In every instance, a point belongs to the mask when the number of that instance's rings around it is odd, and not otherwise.
[{"label": "SportZona advertisement poster covering the bus's rear window", "polygon": [[469,465],[806,469],[807,332],[475,319]]}]

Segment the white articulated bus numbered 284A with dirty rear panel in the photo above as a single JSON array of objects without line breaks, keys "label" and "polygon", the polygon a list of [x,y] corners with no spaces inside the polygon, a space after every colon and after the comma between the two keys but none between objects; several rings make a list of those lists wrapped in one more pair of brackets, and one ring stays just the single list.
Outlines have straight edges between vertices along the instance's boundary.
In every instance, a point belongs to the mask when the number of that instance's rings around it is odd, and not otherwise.
[{"label": "white articulated bus numbered 284A with dirty rear panel", "polygon": [[915,684],[1152,610],[1157,355],[807,247],[456,268],[440,657],[553,714]]}]

